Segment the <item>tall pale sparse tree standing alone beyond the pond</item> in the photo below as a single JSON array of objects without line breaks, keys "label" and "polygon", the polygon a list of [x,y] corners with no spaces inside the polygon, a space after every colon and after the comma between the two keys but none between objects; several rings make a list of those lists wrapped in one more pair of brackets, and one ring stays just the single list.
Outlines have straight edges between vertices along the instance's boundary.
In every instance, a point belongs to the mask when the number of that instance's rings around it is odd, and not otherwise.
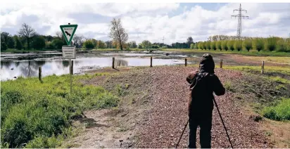
[{"label": "tall pale sparse tree standing alone beyond the pond", "polygon": [[111,21],[111,32],[110,37],[117,41],[120,45],[121,50],[123,49],[122,44],[128,40],[128,34],[125,32],[125,29],[122,27],[120,18],[113,18]]}]

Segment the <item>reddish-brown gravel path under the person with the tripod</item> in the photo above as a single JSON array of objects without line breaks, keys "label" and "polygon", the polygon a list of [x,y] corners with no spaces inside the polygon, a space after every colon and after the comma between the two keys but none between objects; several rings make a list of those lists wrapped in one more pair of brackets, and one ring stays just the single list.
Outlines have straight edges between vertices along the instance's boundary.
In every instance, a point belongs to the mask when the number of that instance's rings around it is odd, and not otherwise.
[{"label": "reddish-brown gravel path under the person with the tripod", "polygon": [[[187,99],[189,86],[185,80],[194,67],[152,67],[152,108],[139,124],[137,148],[174,148],[187,122]],[[221,82],[240,79],[242,74],[231,70],[215,70]],[[241,108],[234,105],[232,94],[215,97],[222,118],[228,129],[234,148],[270,148],[269,142],[258,129],[258,123],[249,118]],[[184,131],[179,148],[187,148],[188,127]],[[199,131],[198,131],[199,134]],[[199,135],[197,135],[199,136]],[[199,138],[198,138],[199,148]],[[213,110],[212,148],[230,148],[225,129]]]}]

